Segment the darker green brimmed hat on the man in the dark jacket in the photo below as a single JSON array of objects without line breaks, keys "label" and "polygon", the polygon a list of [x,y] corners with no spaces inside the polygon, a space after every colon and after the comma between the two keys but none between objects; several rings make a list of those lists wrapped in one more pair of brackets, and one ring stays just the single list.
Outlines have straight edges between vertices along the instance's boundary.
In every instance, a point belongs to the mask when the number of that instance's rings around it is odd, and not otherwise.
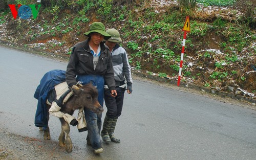
[{"label": "darker green brimmed hat on the man in the dark jacket", "polygon": [[111,37],[111,35],[105,32],[105,26],[102,24],[102,22],[93,22],[92,25],[90,26],[90,31],[83,34],[90,37],[90,33],[92,32],[97,32],[102,34],[105,40]]}]

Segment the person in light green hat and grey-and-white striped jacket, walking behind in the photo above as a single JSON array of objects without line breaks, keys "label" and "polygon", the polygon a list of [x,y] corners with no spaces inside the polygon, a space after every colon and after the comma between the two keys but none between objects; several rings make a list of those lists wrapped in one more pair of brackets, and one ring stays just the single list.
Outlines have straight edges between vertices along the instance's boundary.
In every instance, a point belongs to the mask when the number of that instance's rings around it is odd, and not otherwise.
[{"label": "person in light green hat and grey-and-white striped jacket, walking behind", "polygon": [[116,29],[108,29],[106,33],[111,35],[111,38],[106,40],[105,46],[109,48],[111,52],[117,91],[117,96],[113,97],[111,96],[111,89],[108,85],[105,85],[104,100],[108,111],[106,112],[100,135],[102,136],[102,140],[106,144],[109,144],[111,141],[120,143],[120,140],[114,136],[114,130],[117,119],[121,116],[122,112],[124,91],[126,89],[125,80],[128,94],[131,94],[133,91],[133,80],[126,51],[119,45],[119,43],[122,42],[119,32]]}]

